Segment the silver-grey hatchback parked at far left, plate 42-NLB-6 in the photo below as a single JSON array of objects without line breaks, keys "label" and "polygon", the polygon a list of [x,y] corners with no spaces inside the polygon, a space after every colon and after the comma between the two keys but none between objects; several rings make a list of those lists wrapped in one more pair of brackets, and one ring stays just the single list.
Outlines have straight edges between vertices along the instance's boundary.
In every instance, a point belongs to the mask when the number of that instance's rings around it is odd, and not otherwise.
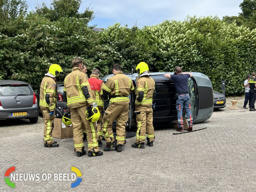
[{"label": "silver-grey hatchback parked at far left, plate 42-NLB-6", "polygon": [[23,81],[0,80],[0,120],[38,121],[38,103],[32,87]]}]

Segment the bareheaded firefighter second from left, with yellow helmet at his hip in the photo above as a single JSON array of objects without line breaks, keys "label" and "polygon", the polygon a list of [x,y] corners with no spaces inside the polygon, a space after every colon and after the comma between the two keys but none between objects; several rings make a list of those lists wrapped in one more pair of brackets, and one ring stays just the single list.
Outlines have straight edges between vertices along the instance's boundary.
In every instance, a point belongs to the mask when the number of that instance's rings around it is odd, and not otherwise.
[{"label": "bareheaded firefighter second from left, with yellow helmet at his hip", "polygon": [[88,156],[100,156],[95,134],[96,123],[86,120],[86,110],[92,108],[94,99],[86,75],[82,72],[83,61],[75,58],[72,61],[72,72],[64,80],[64,101],[71,110],[75,152],[78,157],[86,154],[83,143],[83,124],[87,131]]}]

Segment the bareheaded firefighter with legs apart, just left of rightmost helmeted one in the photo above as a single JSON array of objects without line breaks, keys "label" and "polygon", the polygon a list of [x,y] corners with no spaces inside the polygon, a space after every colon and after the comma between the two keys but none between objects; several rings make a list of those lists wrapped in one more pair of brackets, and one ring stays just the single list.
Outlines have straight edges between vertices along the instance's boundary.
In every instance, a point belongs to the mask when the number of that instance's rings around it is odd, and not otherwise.
[{"label": "bareheaded firefighter with legs apart, just left of rightmost helmeted one", "polygon": [[[115,64],[112,67],[114,76],[108,78],[102,88],[102,98],[107,99],[110,94],[108,108],[102,119],[102,129],[106,140],[104,151],[115,148],[117,152],[122,151],[125,143],[125,127],[129,115],[130,99],[128,95],[134,91],[132,80],[123,74],[121,66]],[[112,123],[116,119],[116,143],[113,136]]]}]

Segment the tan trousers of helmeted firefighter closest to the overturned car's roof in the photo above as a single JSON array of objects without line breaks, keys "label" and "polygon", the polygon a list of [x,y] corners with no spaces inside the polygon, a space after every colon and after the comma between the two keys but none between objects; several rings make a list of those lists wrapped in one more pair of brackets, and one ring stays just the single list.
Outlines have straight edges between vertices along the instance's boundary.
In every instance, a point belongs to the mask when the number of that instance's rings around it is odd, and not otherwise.
[{"label": "tan trousers of helmeted firefighter closest to the overturned car's roof", "polygon": [[150,106],[136,106],[136,143],[144,143],[145,135],[149,138],[149,142],[155,140],[154,127],[153,127],[153,109]]}]

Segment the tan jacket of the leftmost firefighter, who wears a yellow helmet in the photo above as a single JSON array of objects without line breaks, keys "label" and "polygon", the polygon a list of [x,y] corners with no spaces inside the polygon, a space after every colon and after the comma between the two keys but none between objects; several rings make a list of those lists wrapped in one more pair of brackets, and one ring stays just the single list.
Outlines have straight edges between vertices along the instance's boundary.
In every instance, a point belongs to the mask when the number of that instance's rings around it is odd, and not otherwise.
[{"label": "tan jacket of the leftmost firefighter, who wears a yellow helmet", "polygon": [[57,83],[56,79],[45,76],[40,85],[40,101],[41,109],[55,110],[55,103],[57,101]]}]

